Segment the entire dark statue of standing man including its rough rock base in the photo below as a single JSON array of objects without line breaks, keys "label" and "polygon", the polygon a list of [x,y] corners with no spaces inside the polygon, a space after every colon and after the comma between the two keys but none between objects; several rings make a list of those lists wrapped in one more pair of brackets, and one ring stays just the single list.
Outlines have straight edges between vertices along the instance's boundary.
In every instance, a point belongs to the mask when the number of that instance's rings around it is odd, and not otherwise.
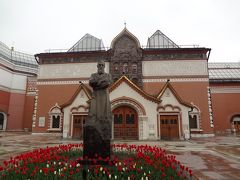
[{"label": "entire dark statue of standing man including its rough rock base", "polygon": [[110,157],[110,141],[112,133],[112,112],[108,87],[112,82],[111,75],[104,72],[105,63],[99,61],[98,72],[93,73],[89,85],[93,88],[89,115],[84,125],[83,155],[94,158],[95,154],[102,158]]}]

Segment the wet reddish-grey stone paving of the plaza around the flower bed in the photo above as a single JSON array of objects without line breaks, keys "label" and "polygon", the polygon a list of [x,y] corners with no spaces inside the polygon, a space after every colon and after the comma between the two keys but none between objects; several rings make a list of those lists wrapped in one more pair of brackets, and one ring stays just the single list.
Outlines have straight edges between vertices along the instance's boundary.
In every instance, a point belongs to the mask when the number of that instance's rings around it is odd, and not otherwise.
[{"label": "wet reddish-grey stone paving of the plaza around the flower bed", "polygon": [[[30,133],[0,133],[0,163],[11,156],[36,148],[78,143],[61,137]],[[175,154],[198,179],[240,179],[240,136],[226,135],[190,141],[115,141],[115,143],[156,145]]]}]

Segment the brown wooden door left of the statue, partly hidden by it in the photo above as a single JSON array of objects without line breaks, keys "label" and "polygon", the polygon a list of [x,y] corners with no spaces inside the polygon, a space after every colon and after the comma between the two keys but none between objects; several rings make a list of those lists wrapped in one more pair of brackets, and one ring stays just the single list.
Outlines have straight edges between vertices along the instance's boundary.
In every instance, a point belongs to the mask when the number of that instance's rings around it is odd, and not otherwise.
[{"label": "brown wooden door left of the statue, partly hidden by it", "polygon": [[73,138],[83,139],[83,125],[87,115],[73,116]]}]

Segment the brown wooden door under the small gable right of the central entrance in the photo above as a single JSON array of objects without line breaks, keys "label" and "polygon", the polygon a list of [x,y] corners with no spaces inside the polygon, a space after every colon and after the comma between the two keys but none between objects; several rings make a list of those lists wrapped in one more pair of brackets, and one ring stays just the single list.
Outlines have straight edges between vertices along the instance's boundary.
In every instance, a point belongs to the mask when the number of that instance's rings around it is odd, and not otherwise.
[{"label": "brown wooden door under the small gable right of the central entrance", "polygon": [[178,116],[160,115],[161,139],[179,139]]}]

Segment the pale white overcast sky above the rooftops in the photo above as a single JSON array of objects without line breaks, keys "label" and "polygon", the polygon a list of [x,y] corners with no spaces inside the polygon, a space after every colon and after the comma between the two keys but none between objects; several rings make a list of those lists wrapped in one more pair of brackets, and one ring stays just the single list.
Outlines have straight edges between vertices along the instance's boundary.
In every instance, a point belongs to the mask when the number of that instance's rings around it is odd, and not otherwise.
[{"label": "pale white overcast sky above the rooftops", "polygon": [[86,33],[109,47],[124,21],[143,46],[160,30],[211,48],[209,62],[240,62],[240,0],[0,0],[0,41],[31,54],[69,49]]}]

